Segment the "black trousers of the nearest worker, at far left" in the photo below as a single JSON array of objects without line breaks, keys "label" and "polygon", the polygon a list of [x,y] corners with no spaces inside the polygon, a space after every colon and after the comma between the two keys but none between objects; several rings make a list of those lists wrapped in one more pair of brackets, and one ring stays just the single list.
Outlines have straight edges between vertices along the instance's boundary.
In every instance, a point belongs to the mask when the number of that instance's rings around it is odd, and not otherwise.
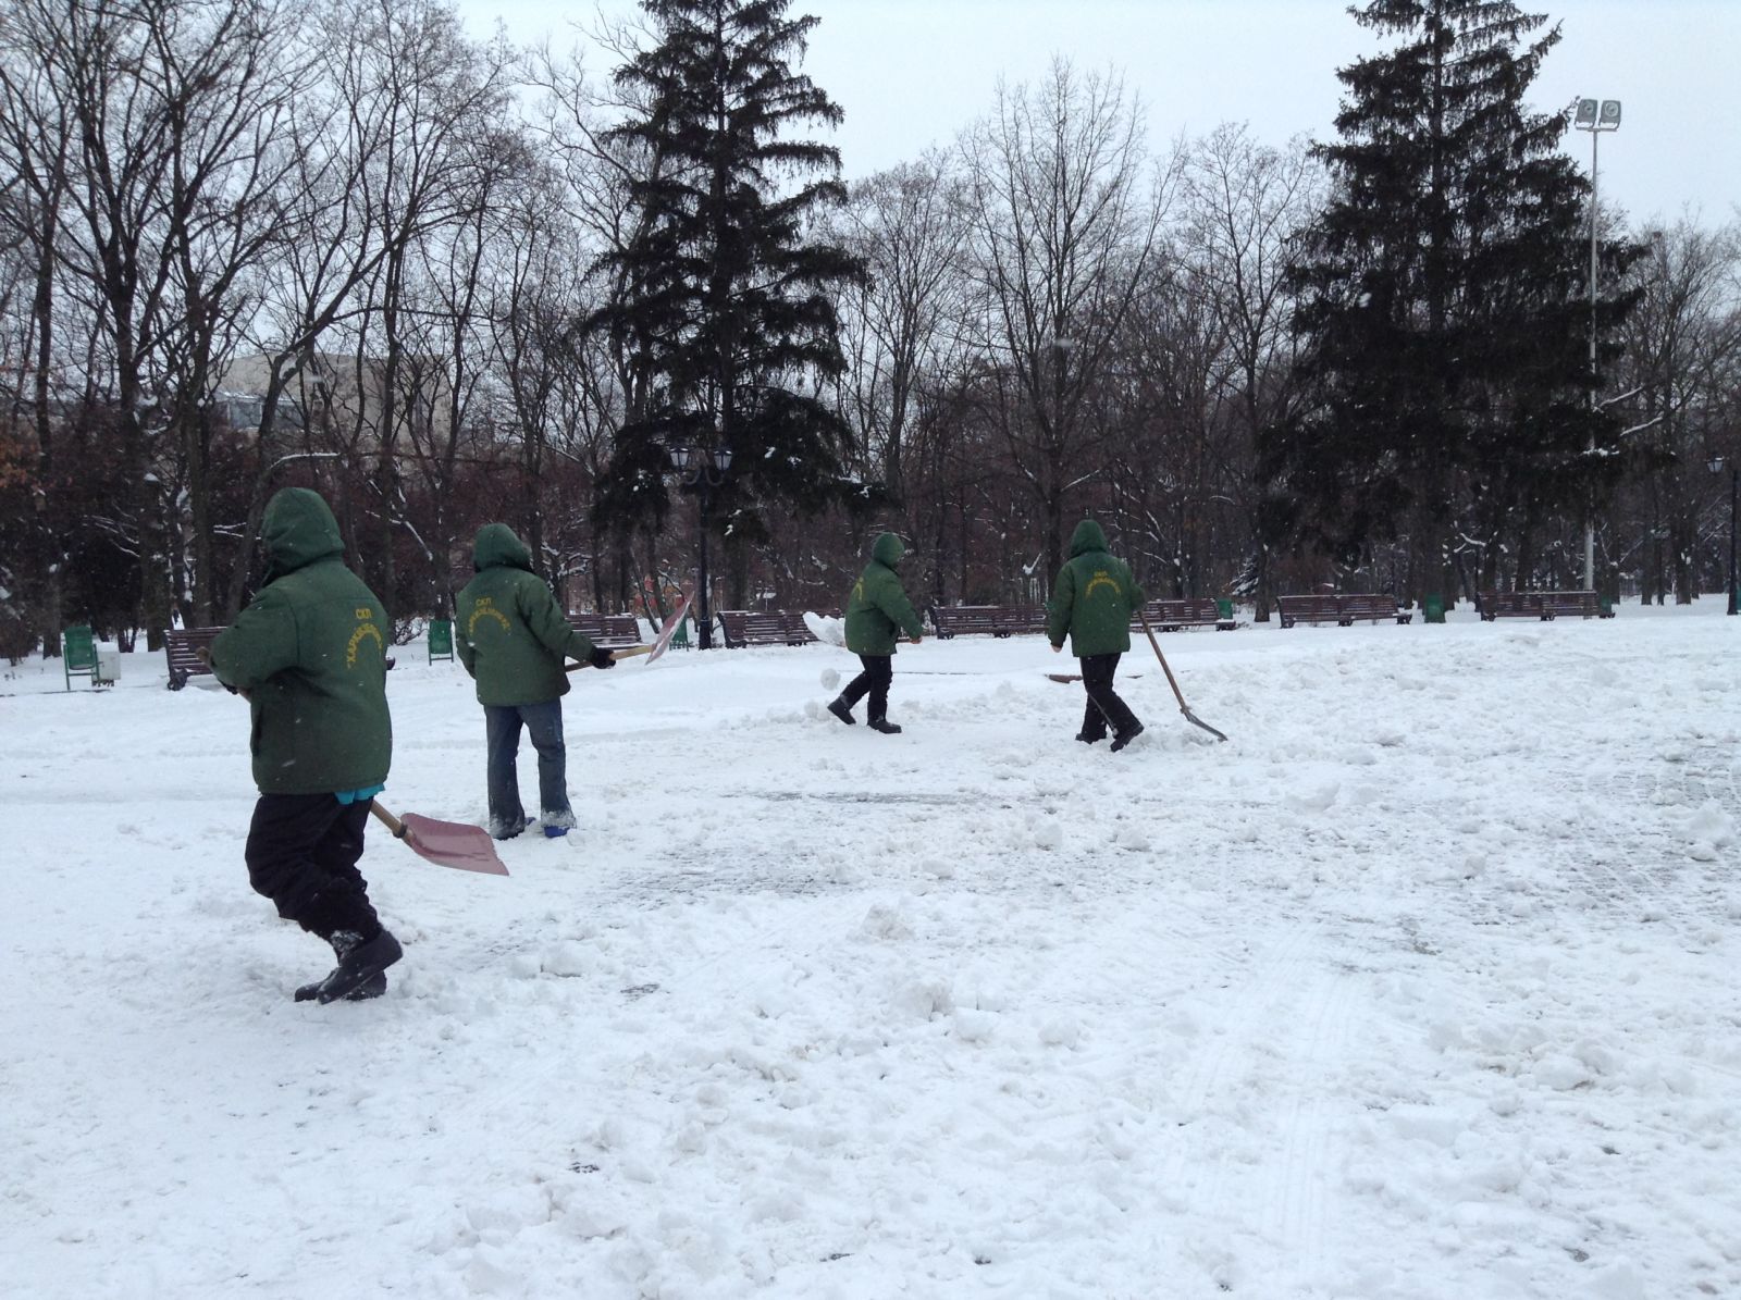
[{"label": "black trousers of the nearest worker, at far left", "polygon": [[279,915],[324,940],[348,929],[371,940],[381,922],[357,870],[369,801],[324,795],[261,795],[247,828],[247,881]]}]

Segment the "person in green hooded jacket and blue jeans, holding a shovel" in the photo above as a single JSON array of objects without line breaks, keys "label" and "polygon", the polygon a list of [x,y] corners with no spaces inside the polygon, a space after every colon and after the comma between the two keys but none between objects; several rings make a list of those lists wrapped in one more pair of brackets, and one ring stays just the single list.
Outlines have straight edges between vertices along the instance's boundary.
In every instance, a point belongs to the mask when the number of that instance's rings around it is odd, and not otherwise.
[{"label": "person in green hooded jacket and blue jeans, holding a shovel", "polygon": [[454,602],[460,663],[477,680],[487,743],[489,834],[514,839],[528,825],[521,804],[521,726],[538,750],[538,804],[545,835],[575,825],[568,802],[568,747],[562,741],[562,660],[615,668],[608,649],[569,627],[550,586],[533,573],[533,553],[507,524],[486,524],[472,546],[477,576]]}]

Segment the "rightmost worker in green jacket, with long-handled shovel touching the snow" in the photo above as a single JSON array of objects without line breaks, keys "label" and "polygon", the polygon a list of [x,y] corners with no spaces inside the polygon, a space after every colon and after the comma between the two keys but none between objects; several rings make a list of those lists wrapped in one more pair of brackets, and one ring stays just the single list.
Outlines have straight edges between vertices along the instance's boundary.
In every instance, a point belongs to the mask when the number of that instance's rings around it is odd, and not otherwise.
[{"label": "rightmost worker in green jacket, with long-handled shovel touching the snow", "polygon": [[1142,722],[1112,689],[1118,660],[1130,649],[1130,616],[1142,607],[1142,600],[1130,566],[1107,552],[1100,526],[1092,519],[1078,524],[1071,534],[1071,559],[1052,585],[1046,639],[1057,654],[1069,633],[1071,654],[1081,660],[1088,707],[1076,740],[1085,745],[1106,740],[1107,724],[1112,726],[1114,750],[1142,734]]}]

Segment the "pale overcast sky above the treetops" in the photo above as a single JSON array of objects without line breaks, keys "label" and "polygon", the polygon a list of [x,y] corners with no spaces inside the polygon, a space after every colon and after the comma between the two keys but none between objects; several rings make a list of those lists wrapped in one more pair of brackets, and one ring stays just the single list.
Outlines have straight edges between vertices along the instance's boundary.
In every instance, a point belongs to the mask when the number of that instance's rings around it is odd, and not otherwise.
[{"label": "pale overcast sky above the treetops", "polygon": [[[458,0],[474,35],[576,40],[595,10],[632,0]],[[1706,223],[1741,218],[1741,0],[1541,0],[1563,40],[1532,87],[1539,108],[1577,96],[1619,99],[1621,129],[1600,144],[1603,205]],[[865,176],[949,144],[992,103],[998,78],[1038,82],[1053,54],[1079,70],[1116,68],[1147,108],[1149,141],[1247,122],[1273,144],[1328,137],[1335,68],[1381,49],[1344,0],[794,0],[815,14],[806,71],[841,104],[834,136],[846,176]],[[597,56],[588,68],[608,73]],[[1590,167],[1590,136],[1567,151]]]}]

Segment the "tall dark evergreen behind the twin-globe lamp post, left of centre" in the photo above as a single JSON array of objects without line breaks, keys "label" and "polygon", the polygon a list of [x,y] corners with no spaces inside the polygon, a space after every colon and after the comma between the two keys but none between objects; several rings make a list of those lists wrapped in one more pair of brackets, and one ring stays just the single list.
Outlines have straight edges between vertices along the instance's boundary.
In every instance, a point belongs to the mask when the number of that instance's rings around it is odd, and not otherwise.
[{"label": "tall dark evergreen behind the twin-globe lamp post, left of centre", "polygon": [[790,70],[818,19],[787,5],[642,0],[660,42],[616,73],[639,104],[609,132],[635,160],[632,233],[606,258],[623,291],[595,325],[642,399],[601,489],[608,526],[663,513],[674,444],[731,452],[714,526],[738,541],[766,534],[763,510],[815,510],[841,487],[848,430],[817,390],[844,364],[834,292],[864,268],[806,230],[846,198],[839,151],[782,134],[841,110]]}]

